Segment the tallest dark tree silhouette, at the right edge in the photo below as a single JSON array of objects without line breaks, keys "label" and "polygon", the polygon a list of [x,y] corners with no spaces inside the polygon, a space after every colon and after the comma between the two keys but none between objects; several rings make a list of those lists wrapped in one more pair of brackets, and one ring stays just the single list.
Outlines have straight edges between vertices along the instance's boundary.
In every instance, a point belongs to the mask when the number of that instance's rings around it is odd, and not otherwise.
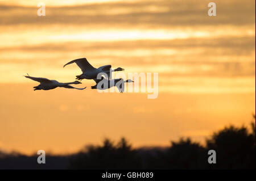
[{"label": "tallest dark tree silhouette, at the right edge", "polygon": [[217,164],[211,165],[213,169],[255,168],[255,133],[249,133],[245,127],[230,126],[214,133],[207,140],[207,149],[217,154]]}]

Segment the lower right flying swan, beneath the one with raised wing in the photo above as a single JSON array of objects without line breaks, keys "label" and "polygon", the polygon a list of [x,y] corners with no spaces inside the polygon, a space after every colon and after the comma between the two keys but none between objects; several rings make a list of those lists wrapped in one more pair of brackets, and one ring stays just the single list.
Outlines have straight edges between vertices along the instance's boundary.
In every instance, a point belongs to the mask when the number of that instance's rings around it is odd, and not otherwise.
[{"label": "lower right flying swan, beneath the one with raised wing", "polygon": [[[124,84],[126,82],[133,82],[131,79],[127,79],[126,81],[124,81],[122,78],[108,80],[104,77],[101,77],[101,79],[94,79],[94,81],[96,82],[96,85],[92,86],[92,89],[105,90],[115,86],[121,93],[123,93],[123,91],[125,90]],[[98,85],[98,83],[100,82],[102,82],[101,86]],[[104,86],[104,85],[107,85],[107,83],[108,83],[108,86]]]}]

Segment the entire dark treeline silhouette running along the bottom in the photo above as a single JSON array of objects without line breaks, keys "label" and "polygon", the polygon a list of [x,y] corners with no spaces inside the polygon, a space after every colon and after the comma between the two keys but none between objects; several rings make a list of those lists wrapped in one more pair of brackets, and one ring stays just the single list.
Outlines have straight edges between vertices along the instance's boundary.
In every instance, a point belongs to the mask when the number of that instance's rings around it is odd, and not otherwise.
[{"label": "entire dark treeline silhouette running along the bottom", "polygon": [[[208,163],[209,150],[216,151],[216,164]],[[121,138],[117,144],[106,139],[72,155],[46,155],[46,164],[39,165],[37,157],[0,152],[0,169],[255,169],[255,116],[251,129],[226,127],[205,146],[181,138],[166,148],[134,149]]]}]

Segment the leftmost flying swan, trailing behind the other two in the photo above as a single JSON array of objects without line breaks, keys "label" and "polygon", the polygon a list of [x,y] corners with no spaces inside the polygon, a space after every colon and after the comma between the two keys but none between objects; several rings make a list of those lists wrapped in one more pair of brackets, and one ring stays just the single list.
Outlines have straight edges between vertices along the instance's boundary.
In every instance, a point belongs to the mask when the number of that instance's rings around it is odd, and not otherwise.
[{"label": "leftmost flying swan, trailing behind the other two", "polygon": [[79,81],[62,83],[62,82],[58,82],[58,81],[55,81],[55,80],[49,80],[47,78],[31,77],[31,76],[27,76],[27,75],[25,75],[24,77],[30,78],[30,79],[32,79],[33,81],[36,81],[36,82],[40,82],[40,84],[38,86],[33,87],[34,91],[35,90],[51,90],[51,89],[55,89],[56,87],[64,87],[64,88],[67,88],[67,89],[79,89],[79,90],[84,90],[86,88],[86,87],[76,88],[76,87],[71,86],[71,84],[81,83]]}]

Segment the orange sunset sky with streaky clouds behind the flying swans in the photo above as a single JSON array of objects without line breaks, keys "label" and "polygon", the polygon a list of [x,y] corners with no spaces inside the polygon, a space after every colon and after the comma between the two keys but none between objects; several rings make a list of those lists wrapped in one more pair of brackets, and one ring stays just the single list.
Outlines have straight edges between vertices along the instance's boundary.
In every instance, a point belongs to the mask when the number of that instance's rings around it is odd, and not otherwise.
[{"label": "orange sunset sky with streaky clouds behind the flying swans", "polygon": [[[135,147],[203,144],[255,113],[254,0],[0,0],[0,32],[0,150],[73,153],[122,136]],[[82,91],[33,91],[22,76],[72,82],[81,70],[63,65],[81,57],[157,72],[158,98],[99,93],[87,79]]]}]

